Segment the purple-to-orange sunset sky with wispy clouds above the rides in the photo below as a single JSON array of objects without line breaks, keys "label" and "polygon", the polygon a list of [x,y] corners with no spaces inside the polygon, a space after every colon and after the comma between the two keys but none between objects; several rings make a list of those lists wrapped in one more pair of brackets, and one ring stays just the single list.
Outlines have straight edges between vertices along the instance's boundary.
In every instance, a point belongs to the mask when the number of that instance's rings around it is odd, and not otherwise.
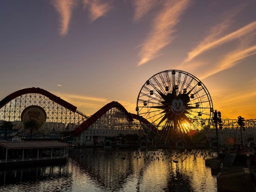
[{"label": "purple-to-orange sunset sky with wispy clouds above the rides", "polygon": [[136,113],[145,81],[186,71],[223,118],[256,118],[255,0],[0,0],[0,100],[40,87],[92,115]]}]

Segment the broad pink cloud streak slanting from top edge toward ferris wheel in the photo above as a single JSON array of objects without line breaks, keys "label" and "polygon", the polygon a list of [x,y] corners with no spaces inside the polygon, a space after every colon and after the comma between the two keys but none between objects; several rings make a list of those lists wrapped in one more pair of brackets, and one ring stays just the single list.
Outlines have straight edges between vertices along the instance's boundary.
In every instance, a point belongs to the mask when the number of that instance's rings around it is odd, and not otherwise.
[{"label": "broad pink cloud streak slanting from top edge toward ferris wheel", "polygon": [[172,36],[175,32],[174,27],[180,21],[180,16],[190,3],[189,0],[161,2],[162,9],[156,15],[151,32],[141,45],[138,65],[145,64],[158,57],[160,55],[159,51],[171,43],[174,38]]}]

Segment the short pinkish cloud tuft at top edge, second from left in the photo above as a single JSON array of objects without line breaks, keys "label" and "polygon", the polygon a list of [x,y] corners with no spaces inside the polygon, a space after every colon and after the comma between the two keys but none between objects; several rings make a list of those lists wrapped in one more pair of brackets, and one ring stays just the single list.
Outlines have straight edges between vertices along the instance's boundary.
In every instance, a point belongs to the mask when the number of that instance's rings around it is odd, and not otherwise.
[{"label": "short pinkish cloud tuft at top edge, second from left", "polygon": [[90,21],[93,22],[97,18],[106,15],[112,9],[110,1],[102,0],[83,0],[84,9],[89,10]]}]

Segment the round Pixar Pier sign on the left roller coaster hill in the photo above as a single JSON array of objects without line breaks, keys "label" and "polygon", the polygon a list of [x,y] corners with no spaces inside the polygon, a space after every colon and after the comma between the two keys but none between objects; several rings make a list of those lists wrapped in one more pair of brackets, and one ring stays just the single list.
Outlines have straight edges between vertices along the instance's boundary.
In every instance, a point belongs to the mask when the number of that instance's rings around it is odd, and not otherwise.
[{"label": "round Pixar Pier sign on the left roller coaster hill", "polygon": [[21,120],[23,123],[27,122],[29,119],[35,119],[38,122],[39,127],[46,121],[46,117],[46,111],[37,105],[26,107],[21,113]]}]

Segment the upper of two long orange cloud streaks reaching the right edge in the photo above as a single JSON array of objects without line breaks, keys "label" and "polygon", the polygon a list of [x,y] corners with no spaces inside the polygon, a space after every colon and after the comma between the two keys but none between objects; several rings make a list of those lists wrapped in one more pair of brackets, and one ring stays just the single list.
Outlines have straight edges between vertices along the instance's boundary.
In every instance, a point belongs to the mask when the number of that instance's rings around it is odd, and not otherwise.
[{"label": "upper of two long orange cloud streaks reaching the right edge", "polygon": [[217,30],[213,30],[212,33],[207,36],[203,42],[201,42],[196,48],[194,48],[191,52],[188,53],[188,57],[185,59],[185,62],[190,62],[197,55],[206,52],[209,49],[216,48],[224,43],[228,43],[234,39],[238,39],[246,34],[252,32],[256,28],[256,21],[249,23],[248,25],[236,30],[232,33],[229,33],[221,38],[214,39],[214,32]]}]

